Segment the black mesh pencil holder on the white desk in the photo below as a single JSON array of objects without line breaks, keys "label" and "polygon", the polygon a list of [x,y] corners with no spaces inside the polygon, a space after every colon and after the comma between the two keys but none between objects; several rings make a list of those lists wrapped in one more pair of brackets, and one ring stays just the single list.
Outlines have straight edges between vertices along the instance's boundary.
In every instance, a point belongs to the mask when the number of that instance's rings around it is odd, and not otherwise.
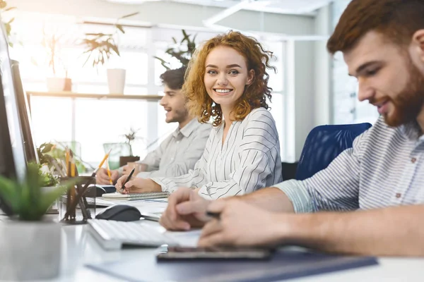
[{"label": "black mesh pencil holder on the white desk", "polygon": [[[71,180],[72,178],[61,178]],[[64,224],[84,224],[95,217],[95,177],[78,176],[82,184],[74,185],[59,197],[59,219]]]}]

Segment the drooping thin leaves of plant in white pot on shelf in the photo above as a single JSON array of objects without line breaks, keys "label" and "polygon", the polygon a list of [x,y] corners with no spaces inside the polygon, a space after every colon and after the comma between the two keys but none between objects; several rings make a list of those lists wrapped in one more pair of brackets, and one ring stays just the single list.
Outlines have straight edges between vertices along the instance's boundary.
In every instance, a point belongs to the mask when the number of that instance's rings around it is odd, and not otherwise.
[{"label": "drooping thin leaves of plant in white pot on shelf", "polygon": [[119,24],[119,20],[136,16],[138,13],[139,12],[130,13],[129,15],[118,18],[117,22],[114,23],[115,29],[112,33],[86,33],[86,38],[84,38],[81,43],[86,47],[86,51],[84,51],[83,54],[88,54],[83,66],[86,66],[86,63],[91,60],[93,68],[98,68],[98,65],[104,65],[110,59],[110,56],[114,54],[121,56],[121,54],[119,54],[117,42],[114,39],[119,32],[122,34],[125,33],[124,28]]}]

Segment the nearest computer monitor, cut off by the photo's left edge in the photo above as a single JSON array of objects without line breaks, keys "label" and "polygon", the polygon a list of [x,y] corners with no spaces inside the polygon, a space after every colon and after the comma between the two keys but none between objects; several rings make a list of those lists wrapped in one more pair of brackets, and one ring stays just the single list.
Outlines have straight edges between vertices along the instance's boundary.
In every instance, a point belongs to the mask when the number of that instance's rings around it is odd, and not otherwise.
[{"label": "nearest computer monitor, cut off by the photo's left edge", "polygon": [[[4,25],[0,25],[0,29],[0,175],[23,181],[26,174],[25,149]],[[0,208],[11,214],[10,207],[1,198]]]}]

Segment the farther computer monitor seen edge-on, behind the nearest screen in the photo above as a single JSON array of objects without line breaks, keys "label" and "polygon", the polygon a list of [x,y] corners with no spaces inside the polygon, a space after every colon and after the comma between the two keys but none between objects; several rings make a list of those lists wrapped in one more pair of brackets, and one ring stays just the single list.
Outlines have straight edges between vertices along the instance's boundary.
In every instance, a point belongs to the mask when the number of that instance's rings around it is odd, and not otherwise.
[{"label": "farther computer monitor seen edge-on, behind the nearest screen", "polygon": [[16,91],[16,102],[19,108],[20,128],[22,130],[23,147],[25,149],[25,159],[28,162],[39,163],[37,147],[33,142],[33,130],[31,130],[31,113],[28,104],[28,97],[23,89],[20,79],[19,62],[12,60],[13,85]]}]

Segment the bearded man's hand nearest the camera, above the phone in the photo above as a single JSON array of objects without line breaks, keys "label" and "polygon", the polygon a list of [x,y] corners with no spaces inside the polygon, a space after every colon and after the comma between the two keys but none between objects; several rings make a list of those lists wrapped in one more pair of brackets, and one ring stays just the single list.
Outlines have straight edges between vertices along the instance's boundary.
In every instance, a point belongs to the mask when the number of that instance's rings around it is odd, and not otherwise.
[{"label": "bearded man's hand nearest the camera, above the phone", "polygon": [[285,230],[278,219],[283,214],[267,212],[242,200],[212,202],[208,212],[220,214],[220,219],[206,223],[198,243],[200,247],[270,246],[278,243]]}]

